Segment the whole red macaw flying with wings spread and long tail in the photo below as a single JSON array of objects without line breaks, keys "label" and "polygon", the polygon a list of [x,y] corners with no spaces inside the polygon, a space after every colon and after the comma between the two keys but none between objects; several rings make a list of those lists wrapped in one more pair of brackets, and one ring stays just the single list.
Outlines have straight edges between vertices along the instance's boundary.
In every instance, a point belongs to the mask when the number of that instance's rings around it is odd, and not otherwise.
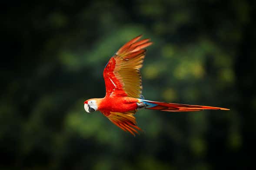
[{"label": "whole red macaw flying with wings spread and long tail", "polygon": [[135,135],[134,132],[138,134],[137,130],[141,129],[137,126],[134,114],[141,108],[170,112],[229,110],[145,100],[142,95],[140,69],[146,55],[145,48],[152,42],[150,39],[139,40],[141,37],[142,35],[130,40],[111,57],[103,71],[106,96],[84,101],[86,112],[101,111],[113,124]]}]

